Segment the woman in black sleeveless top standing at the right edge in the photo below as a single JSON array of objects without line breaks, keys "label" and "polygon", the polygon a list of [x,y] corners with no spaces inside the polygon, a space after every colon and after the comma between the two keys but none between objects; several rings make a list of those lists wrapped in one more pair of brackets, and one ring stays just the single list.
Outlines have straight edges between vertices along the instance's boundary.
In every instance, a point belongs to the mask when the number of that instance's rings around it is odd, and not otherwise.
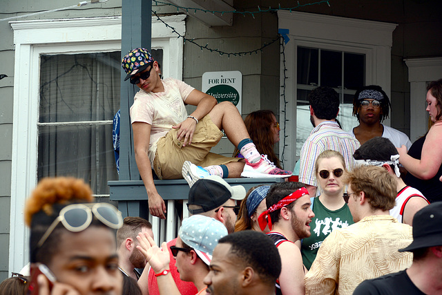
[{"label": "woman in black sleeveless top standing at the right edge", "polygon": [[408,173],[405,183],[423,193],[430,202],[442,201],[442,79],[427,86],[427,108],[432,126],[407,148],[398,148],[399,162]]}]

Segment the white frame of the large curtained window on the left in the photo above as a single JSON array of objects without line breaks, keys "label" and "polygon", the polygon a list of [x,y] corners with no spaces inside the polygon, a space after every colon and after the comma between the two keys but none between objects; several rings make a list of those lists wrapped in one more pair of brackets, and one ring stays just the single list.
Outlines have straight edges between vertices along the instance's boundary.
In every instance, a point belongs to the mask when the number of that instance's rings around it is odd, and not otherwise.
[{"label": "white frame of the large curtained window on the left", "polygon": [[[185,35],[185,18],[175,15],[164,20]],[[14,30],[15,77],[9,271],[17,272],[29,261],[23,208],[37,184],[40,55],[119,51],[122,18],[11,21],[10,25]],[[165,77],[182,79],[183,41],[156,17],[152,18],[152,47],[163,49]]]}]

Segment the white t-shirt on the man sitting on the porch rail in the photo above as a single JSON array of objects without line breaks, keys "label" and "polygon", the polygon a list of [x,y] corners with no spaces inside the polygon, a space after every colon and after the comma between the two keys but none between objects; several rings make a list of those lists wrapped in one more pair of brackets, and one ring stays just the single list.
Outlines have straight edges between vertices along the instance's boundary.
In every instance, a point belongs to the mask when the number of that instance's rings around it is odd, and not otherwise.
[{"label": "white t-shirt on the man sitting on the porch rail", "polygon": [[151,125],[148,157],[153,165],[157,142],[171,131],[172,126],[186,120],[184,101],[195,89],[173,78],[162,80],[164,92],[153,93],[140,89],[131,106],[131,123],[144,122]]}]

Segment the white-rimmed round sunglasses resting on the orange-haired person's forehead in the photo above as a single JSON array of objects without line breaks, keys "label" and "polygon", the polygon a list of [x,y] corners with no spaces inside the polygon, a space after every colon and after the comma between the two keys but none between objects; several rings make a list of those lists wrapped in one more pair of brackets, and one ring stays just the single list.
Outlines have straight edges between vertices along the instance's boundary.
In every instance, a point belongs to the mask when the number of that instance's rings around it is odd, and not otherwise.
[{"label": "white-rimmed round sunglasses resting on the orange-haired person's forehead", "polygon": [[48,227],[45,234],[39,240],[37,247],[43,245],[59,222],[68,231],[79,232],[88,228],[93,220],[93,215],[104,225],[112,229],[119,229],[123,225],[122,213],[111,204],[70,204],[61,209],[59,216]]}]

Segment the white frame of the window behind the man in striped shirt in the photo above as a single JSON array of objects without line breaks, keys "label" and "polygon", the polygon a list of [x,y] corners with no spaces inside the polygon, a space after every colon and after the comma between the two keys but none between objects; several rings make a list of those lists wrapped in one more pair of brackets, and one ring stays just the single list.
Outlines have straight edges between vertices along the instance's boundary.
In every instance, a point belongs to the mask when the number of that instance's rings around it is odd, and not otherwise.
[{"label": "white frame of the window behind the man in striped shirt", "polygon": [[[285,144],[280,143],[280,155],[284,151],[284,166],[291,169],[296,163],[296,88],[297,47],[324,48],[365,54],[365,84],[376,84],[387,95],[391,89],[391,47],[394,23],[365,21],[345,17],[331,17],[306,12],[278,11],[278,28],[288,29],[289,41],[285,44],[285,55],[280,59],[280,84],[285,81],[285,99],[280,99],[280,118],[285,129]],[[287,71],[284,73],[284,64]],[[286,113],[284,114],[284,110]],[[390,125],[390,120],[383,122]]]}]

